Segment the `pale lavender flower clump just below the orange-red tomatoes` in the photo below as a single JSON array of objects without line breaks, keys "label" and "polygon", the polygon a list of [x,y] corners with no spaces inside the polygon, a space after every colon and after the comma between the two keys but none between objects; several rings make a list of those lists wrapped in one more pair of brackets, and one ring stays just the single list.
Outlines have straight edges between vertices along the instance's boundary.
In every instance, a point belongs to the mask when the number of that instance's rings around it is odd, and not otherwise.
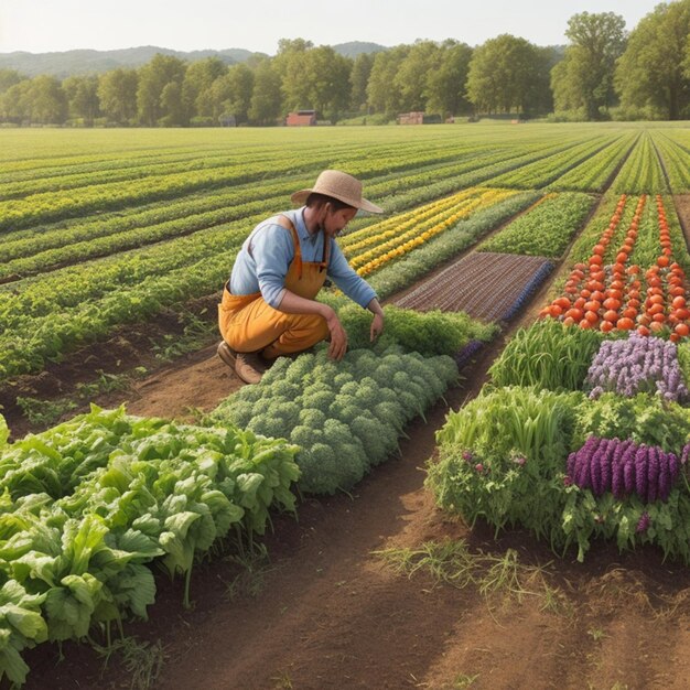
[{"label": "pale lavender flower clump just below the orange-red tomatoes", "polygon": [[650,392],[673,402],[688,399],[676,344],[637,332],[625,339],[602,343],[584,387],[593,399],[606,391],[627,398]]}]

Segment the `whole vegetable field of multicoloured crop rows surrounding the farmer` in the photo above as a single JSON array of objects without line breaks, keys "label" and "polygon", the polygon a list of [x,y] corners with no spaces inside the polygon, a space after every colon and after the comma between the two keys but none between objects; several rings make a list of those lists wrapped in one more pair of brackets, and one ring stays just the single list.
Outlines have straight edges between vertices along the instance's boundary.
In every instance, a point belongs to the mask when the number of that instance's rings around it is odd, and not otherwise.
[{"label": "whole vegetable field of multicoloured crop rows surrounding the farmer", "polygon": [[[524,529],[580,562],[612,542],[690,563],[690,255],[675,201],[690,192],[688,130],[473,127],[0,132],[10,681],[31,684],[28,655],[46,642],[112,648],[155,608],[157,570],[188,607],[198,563],[254,553],[312,497],[376,483],[427,419],[427,489],[467,533]],[[328,290],[342,363],[320,347],[279,359],[194,423],[93,406],[10,440],[18,389],[213,295],[248,229],[324,166],[388,212],[338,239],[386,301],[379,343]],[[513,333],[535,301],[539,317]],[[499,356],[441,423],[477,353]]]}]

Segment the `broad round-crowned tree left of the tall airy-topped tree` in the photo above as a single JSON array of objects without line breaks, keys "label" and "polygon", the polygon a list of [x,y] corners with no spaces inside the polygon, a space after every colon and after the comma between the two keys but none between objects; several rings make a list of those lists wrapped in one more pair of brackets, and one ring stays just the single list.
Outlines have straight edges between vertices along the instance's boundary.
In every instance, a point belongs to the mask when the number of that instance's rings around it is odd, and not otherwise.
[{"label": "broad round-crowned tree left of the tall airy-topped tree", "polygon": [[467,98],[483,112],[527,112],[539,90],[539,50],[510,34],[477,47],[470,61]]}]

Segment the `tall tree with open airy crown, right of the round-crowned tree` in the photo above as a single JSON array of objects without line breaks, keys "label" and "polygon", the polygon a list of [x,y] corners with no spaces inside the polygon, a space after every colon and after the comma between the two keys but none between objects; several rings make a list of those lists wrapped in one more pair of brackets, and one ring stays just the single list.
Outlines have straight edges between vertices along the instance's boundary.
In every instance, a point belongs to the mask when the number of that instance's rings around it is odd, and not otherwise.
[{"label": "tall tree with open airy crown, right of the round-crowned tree", "polygon": [[568,20],[571,43],[551,74],[557,110],[581,109],[599,120],[615,101],[614,71],[625,47],[625,20],[613,12],[581,12]]}]

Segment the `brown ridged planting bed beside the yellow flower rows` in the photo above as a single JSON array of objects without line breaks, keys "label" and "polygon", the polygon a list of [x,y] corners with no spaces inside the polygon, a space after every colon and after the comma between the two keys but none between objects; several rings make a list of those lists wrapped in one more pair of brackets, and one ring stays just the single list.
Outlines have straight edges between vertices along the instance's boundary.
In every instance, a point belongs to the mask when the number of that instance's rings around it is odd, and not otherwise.
[{"label": "brown ridged planting bed beside the yellow flower rows", "polygon": [[552,268],[541,257],[472,252],[395,303],[422,312],[464,311],[484,321],[506,320]]}]

